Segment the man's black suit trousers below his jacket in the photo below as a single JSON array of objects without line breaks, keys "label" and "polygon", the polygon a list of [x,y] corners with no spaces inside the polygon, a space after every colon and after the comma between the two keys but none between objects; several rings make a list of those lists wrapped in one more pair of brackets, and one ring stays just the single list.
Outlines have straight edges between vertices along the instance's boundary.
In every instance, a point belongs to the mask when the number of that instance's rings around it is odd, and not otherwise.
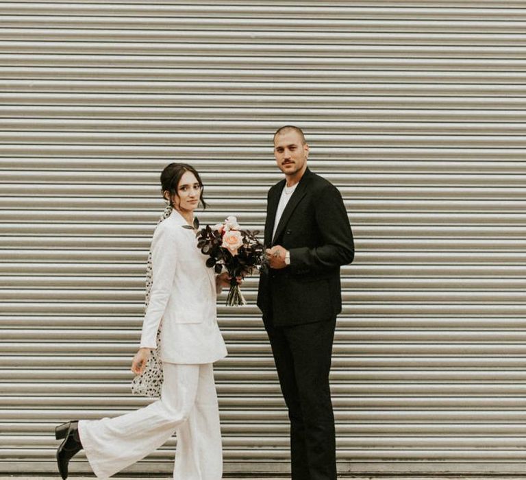
[{"label": "man's black suit trousers below his jacket", "polygon": [[329,390],[336,318],[265,328],[290,419],[292,480],[336,480],[336,440]]}]

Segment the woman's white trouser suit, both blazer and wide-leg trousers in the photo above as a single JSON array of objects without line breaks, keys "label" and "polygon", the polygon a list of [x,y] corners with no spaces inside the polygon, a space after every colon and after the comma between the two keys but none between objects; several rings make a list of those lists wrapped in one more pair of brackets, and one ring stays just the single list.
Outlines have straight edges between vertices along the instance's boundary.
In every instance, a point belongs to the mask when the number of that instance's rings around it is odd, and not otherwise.
[{"label": "woman's white trouser suit, both blazer and wide-leg trousers", "polygon": [[155,229],[153,285],[141,347],[155,348],[162,318],[164,383],[160,400],[116,418],[80,420],[90,466],[107,478],[142,459],[177,433],[174,479],[221,480],[223,454],[212,363],[227,354],[216,321],[212,269],[192,230],[173,211]]}]

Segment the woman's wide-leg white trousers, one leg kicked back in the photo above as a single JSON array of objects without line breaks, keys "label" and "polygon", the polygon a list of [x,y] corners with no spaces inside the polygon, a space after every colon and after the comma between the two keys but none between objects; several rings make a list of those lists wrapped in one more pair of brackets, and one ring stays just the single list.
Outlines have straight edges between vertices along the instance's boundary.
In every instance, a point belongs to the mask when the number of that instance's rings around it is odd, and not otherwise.
[{"label": "woman's wide-leg white trousers, one leg kicked back", "polygon": [[163,363],[160,400],[116,418],[80,420],[90,466],[108,478],[146,457],[177,432],[174,479],[221,480],[223,449],[212,363]]}]

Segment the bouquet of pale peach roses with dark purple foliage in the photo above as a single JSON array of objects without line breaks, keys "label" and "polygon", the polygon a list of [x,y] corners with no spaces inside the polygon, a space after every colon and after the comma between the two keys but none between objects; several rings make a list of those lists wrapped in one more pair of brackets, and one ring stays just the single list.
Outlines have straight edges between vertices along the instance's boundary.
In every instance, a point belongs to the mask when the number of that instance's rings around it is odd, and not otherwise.
[{"label": "bouquet of pale peach roses with dark purple foliage", "polygon": [[212,227],[207,225],[197,232],[197,247],[210,256],[206,266],[214,268],[216,274],[226,269],[231,277],[226,302],[229,307],[247,304],[236,277],[250,275],[266,263],[265,249],[256,237],[258,234],[241,230],[236,217],[228,217]]}]

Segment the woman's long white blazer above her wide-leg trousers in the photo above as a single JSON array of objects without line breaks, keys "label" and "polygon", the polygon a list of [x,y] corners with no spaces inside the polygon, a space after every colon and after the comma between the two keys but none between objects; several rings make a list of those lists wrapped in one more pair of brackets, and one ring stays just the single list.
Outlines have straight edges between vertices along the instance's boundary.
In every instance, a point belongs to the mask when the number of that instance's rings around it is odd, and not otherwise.
[{"label": "woman's long white blazer above her wide-leg trousers", "polygon": [[179,212],[158,224],[151,241],[150,302],[140,346],[157,347],[168,363],[212,363],[227,355],[216,317],[216,277],[208,256],[197,248],[193,230]]}]

